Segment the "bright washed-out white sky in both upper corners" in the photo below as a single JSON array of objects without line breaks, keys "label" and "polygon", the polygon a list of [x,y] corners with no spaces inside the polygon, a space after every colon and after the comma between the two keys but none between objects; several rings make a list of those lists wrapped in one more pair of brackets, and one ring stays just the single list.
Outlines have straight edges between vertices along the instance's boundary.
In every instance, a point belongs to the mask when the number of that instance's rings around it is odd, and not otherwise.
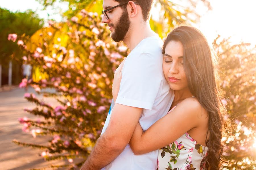
[{"label": "bright washed-out white sky in both upper corners", "polygon": [[[256,45],[256,0],[209,0],[212,11],[201,18],[198,28],[205,34],[209,41],[212,41],[217,34],[223,38],[232,37],[234,43],[241,40]],[[68,9],[68,3],[55,3],[54,7],[48,7],[42,11],[43,7],[36,0],[0,0],[0,7],[10,11],[24,12],[27,9],[36,11],[40,18],[55,19],[61,21],[59,14]],[[201,9],[200,5],[198,7]],[[48,18],[49,14],[49,18]]]}]

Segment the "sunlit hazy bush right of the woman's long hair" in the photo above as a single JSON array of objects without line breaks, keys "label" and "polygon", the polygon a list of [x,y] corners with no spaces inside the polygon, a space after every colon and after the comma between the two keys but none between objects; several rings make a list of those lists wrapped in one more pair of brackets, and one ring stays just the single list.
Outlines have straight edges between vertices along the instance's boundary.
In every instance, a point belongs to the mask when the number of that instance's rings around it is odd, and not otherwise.
[{"label": "sunlit hazy bush right of the woman's long hair", "polygon": [[229,39],[214,41],[219,57],[221,86],[232,120],[232,133],[224,152],[229,169],[256,168],[256,47],[249,43],[231,45]]}]

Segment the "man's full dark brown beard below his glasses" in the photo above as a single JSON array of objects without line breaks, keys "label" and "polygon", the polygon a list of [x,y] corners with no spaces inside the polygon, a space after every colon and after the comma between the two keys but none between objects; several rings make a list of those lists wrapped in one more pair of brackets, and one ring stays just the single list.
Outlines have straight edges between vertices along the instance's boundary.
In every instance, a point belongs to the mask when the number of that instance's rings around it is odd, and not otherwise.
[{"label": "man's full dark brown beard below his glasses", "polygon": [[[130,20],[127,10],[123,10],[123,14],[120,16],[119,21],[117,22],[115,31],[110,34],[111,38],[115,42],[121,42],[125,38],[126,33],[130,28]],[[112,25],[113,26],[113,25]]]}]

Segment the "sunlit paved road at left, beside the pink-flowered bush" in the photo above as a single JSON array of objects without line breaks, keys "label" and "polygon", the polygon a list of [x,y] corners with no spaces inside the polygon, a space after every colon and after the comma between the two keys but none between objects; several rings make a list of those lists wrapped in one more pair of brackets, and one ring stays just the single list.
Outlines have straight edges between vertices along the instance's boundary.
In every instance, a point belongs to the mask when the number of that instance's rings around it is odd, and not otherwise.
[{"label": "sunlit paved road at left, beside the pink-flowered bush", "polygon": [[[33,88],[29,88],[28,92],[35,93]],[[20,88],[0,92],[0,170],[42,168],[48,167],[53,163],[56,165],[56,162],[58,165],[64,164],[67,161],[44,161],[44,158],[39,156],[42,150],[25,148],[12,143],[13,139],[16,139],[20,142],[47,144],[49,139],[42,136],[33,138],[31,132],[22,131],[22,125],[18,122],[18,118],[24,116],[32,120],[39,118],[22,110],[23,108],[35,107],[33,103],[24,99],[24,93],[24,89]],[[47,103],[57,105],[54,99],[36,96]]]}]

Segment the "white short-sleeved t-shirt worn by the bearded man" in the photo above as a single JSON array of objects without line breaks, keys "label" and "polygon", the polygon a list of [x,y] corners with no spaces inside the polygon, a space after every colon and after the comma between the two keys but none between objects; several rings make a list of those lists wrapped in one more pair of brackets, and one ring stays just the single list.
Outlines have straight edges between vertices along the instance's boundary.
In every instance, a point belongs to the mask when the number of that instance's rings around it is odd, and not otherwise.
[{"label": "white short-sleeved t-shirt worn by the bearded man", "polygon": [[[127,56],[123,66],[116,103],[143,108],[139,120],[143,130],[166,115],[174,99],[174,92],[170,90],[162,69],[162,44],[158,36],[145,38]],[[107,116],[102,133],[108,126],[111,112]],[[128,144],[123,152],[103,169],[156,170],[157,156],[158,150],[134,155]]]}]

